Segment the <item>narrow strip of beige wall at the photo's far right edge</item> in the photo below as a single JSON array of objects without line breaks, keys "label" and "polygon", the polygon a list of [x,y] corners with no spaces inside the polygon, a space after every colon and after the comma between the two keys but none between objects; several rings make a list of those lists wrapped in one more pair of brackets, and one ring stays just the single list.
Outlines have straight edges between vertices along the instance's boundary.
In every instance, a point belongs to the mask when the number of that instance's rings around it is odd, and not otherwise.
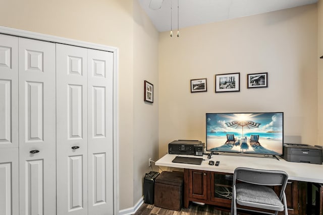
[{"label": "narrow strip of beige wall at the photo's far right edge", "polygon": [[318,101],[318,145],[323,146],[323,0],[317,3],[317,101]]}]

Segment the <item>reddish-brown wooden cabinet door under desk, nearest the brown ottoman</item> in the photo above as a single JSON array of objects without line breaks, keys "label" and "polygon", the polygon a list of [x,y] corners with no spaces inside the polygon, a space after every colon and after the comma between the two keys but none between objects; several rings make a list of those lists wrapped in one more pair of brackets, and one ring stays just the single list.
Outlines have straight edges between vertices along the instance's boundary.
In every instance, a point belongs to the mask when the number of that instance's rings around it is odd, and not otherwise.
[{"label": "reddish-brown wooden cabinet door under desk, nearest the brown ottoman", "polygon": [[207,200],[208,172],[201,170],[190,170],[189,197]]}]

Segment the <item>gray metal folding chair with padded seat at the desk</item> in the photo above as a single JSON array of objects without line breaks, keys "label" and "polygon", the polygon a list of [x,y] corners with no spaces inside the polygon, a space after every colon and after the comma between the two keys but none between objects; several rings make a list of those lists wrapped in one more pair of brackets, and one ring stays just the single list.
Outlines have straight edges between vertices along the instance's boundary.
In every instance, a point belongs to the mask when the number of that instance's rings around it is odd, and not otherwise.
[{"label": "gray metal folding chair with padded seat at the desk", "polygon": [[[237,204],[275,210],[276,215],[278,211],[285,210],[285,215],[288,215],[285,195],[287,180],[288,174],[284,171],[236,168],[233,175],[231,215],[237,214]],[[267,186],[282,186],[280,195]]]}]

